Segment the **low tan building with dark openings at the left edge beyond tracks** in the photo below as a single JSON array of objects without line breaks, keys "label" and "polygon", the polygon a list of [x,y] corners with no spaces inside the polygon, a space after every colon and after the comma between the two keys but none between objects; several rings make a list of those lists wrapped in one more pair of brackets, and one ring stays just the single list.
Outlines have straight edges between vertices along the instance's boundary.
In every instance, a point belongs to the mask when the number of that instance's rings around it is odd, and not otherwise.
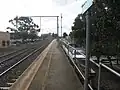
[{"label": "low tan building with dark openings at the left edge beyond tracks", "polygon": [[0,31],[0,48],[7,48],[10,46],[10,33]]}]

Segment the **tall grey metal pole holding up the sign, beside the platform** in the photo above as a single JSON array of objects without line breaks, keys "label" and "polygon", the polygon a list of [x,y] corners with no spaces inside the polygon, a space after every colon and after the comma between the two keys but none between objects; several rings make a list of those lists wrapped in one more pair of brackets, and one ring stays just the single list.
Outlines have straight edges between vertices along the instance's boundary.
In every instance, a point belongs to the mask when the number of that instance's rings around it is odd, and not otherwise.
[{"label": "tall grey metal pole holding up the sign, beside the platform", "polygon": [[86,12],[86,60],[85,60],[85,81],[84,90],[88,90],[89,78],[89,59],[90,59],[90,25],[89,11]]}]

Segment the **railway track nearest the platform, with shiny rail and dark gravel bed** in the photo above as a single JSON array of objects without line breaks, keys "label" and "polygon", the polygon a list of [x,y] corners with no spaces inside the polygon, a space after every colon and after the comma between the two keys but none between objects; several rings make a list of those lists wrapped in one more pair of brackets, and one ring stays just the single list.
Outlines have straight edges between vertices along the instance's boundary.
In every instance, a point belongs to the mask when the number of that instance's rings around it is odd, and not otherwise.
[{"label": "railway track nearest the platform, with shiny rail and dark gravel bed", "polygon": [[0,62],[0,90],[8,90],[50,41],[32,45],[9,58],[4,57]]}]

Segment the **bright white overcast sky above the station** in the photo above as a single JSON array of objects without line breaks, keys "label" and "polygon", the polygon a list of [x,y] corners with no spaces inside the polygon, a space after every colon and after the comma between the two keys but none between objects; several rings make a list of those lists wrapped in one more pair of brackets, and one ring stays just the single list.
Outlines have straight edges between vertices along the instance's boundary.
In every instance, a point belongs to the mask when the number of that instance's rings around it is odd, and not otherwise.
[{"label": "bright white overcast sky above the station", "polygon": [[[82,12],[85,0],[1,0],[0,31],[12,26],[8,21],[16,16],[63,16],[63,32],[69,34],[75,17]],[[33,18],[39,25],[39,18]],[[56,18],[41,18],[41,32],[56,33]],[[59,18],[60,25],[60,18]],[[59,28],[59,33],[60,32]],[[61,35],[61,34],[60,34]]]}]

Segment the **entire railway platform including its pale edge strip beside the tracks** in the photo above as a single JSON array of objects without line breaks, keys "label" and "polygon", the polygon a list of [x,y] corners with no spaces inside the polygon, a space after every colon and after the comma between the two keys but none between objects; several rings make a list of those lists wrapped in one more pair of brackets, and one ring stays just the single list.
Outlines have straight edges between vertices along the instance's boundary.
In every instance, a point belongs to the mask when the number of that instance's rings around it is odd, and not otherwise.
[{"label": "entire railway platform including its pale edge strip beside the tracks", "polygon": [[10,90],[83,90],[83,86],[57,40],[53,40]]}]

